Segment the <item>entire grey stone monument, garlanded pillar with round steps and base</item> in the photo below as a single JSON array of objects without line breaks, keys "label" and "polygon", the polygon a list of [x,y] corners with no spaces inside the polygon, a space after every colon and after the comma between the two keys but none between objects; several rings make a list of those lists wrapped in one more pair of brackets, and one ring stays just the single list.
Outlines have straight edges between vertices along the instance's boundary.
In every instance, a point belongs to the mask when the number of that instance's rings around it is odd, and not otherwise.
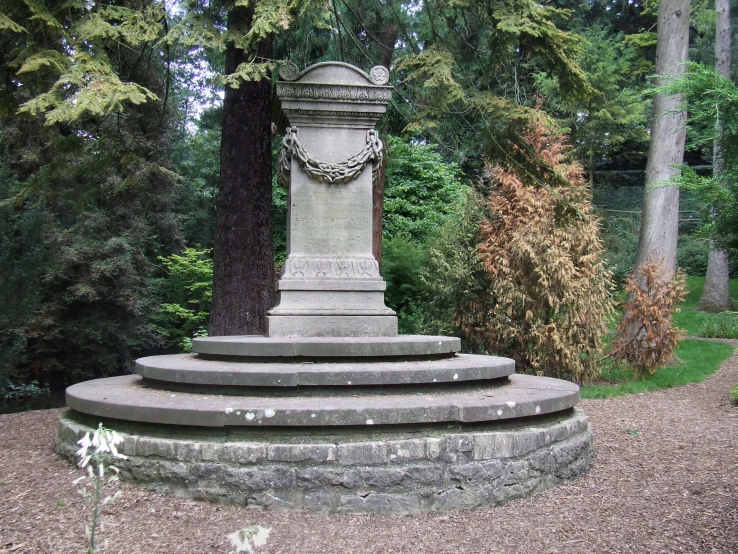
[{"label": "entire grey stone monument, garlanded pillar with round steps and base", "polygon": [[[205,337],[67,389],[58,452],[102,421],[122,476],[195,498],[327,512],[490,506],[586,470],[576,385],[403,336],[371,249],[389,74],[280,70],[288,255],[266,336]],[[117,461],[118,462],[118,461]]]}]

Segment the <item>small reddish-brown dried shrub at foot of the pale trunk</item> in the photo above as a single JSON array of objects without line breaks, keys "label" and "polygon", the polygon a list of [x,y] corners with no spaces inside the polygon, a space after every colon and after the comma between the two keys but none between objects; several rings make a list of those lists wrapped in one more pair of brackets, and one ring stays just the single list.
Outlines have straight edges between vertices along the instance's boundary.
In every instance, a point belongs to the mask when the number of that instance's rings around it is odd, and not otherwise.
[{"label": "small reddish-brown dried shrub at foot of the pale trunk", "polygon": [[625,281],[628,300],[610,357],[625,362],[636,377],[653,375],[674,355],[683,331],[672,326],[676,304],[684,299],[684,275],[665,275],[663,264],[649,260]]}]

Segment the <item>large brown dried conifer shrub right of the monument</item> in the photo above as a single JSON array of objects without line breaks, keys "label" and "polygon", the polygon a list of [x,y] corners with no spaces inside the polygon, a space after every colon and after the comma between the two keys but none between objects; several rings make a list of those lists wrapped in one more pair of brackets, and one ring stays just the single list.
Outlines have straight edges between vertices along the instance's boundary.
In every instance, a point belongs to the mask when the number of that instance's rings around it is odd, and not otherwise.
[{"label": "large brown dried conifer shrub right of the monument", "polygon": [[456,323],[472,348],[510,356],[519,370],[589,381],[613,311],[599,220],[565,137],[538,124],[526,138],[569,186],[534,188],[515,171],[488,168],[495,186],[478,255],[490,289]]}]

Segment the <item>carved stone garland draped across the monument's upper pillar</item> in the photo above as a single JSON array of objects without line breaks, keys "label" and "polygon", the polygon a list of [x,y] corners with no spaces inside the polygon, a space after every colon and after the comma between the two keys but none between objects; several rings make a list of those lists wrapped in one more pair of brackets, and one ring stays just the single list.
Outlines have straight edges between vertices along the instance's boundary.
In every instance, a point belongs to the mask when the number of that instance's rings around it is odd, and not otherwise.
[{"label": "carved stone garland draped across the monument's upper pillar", "polygon": [[279,177],[284,186],[290,182],[290,168],[293,157],[297,159],[302,170],[313,179],[329,185],[348,183],[356,179],[366,167],[372,162],[372,180],[376,181],[379,175],[379,167],[382,164],[382,152],[384,145],[375,129],[369,129],[366,133],[366,146],[345,162],[329,163],[323,162],[310,155],[300,144],[297,138],[297,127],[287,127],[282,140],[282,150],[279,153]]}]

